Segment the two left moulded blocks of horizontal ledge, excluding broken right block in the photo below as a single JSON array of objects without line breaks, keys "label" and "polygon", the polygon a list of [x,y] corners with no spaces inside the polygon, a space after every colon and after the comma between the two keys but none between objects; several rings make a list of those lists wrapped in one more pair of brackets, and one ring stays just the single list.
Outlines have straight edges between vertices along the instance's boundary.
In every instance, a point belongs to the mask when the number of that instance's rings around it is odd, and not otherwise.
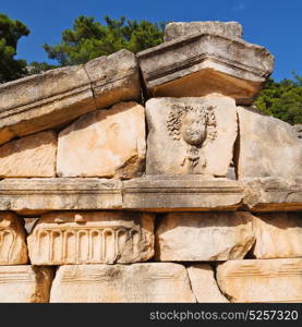
[{"label": "two left moulded blocks of horizontal ledge, excluding broken right block", "polygon": [[235,210],[242,198],[238,181],[197,175],[150,175],[123,182],[97,178],[0,181],[0,210],[26,217],[50,210]]}]

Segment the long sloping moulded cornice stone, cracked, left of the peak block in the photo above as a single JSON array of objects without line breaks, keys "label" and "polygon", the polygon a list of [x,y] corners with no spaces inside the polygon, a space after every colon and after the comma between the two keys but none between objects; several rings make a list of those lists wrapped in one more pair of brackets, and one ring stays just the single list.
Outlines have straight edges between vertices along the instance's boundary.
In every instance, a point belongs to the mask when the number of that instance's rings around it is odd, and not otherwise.
[{"label": "long sloping moulded cornice stone, cracked, left of the peak block", "polygon": [[5,83],[0,86],[0,144],[140,97],[136,58],[124,49],[85,65],[55,69]]}]

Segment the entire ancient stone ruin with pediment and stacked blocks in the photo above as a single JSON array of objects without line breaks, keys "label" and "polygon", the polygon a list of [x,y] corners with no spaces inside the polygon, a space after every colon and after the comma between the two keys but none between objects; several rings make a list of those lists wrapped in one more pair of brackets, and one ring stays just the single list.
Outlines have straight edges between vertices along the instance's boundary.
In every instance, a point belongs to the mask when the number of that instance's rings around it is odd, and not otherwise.
[{"label": "entire ancient stone ruin with pediment and stacked blocks", "polygon": [[301,302],[301,126],[234,22],[0,86],[0,302]]}]

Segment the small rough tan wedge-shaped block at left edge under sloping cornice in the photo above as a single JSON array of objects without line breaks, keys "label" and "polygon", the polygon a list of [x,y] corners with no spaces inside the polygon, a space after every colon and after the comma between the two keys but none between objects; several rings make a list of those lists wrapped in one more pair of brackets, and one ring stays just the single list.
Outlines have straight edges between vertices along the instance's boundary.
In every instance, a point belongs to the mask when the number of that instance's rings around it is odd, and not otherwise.
[{"label": "small rough tan wedge-shaped block at left edge under sloping cornice", "polygon": [[56,177],[57,135],[41,132],[0,147],[0,177]]}]

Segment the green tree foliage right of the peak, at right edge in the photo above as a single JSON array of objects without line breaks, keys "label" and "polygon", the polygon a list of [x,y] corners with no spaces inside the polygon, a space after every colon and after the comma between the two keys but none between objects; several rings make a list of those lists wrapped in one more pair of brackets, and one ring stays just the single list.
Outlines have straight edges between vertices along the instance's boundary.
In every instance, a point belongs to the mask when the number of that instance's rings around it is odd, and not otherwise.
[{"label": "green tree foliage right of the peak, at right edge", "polygon": [[259,93],[256,108],[290,124],[302,123],[302,77],[293,73],[293,78],[275,82],[268,78]]}]

